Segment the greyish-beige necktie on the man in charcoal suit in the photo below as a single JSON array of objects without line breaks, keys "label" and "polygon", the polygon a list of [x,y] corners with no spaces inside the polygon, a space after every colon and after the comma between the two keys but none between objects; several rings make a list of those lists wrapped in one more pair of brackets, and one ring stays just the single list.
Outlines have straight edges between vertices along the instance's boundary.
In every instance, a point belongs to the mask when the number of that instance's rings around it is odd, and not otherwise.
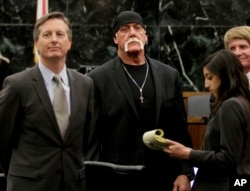
[{"label": "greyish-beige necktie on the man in charcoal suit", "polygon": [[61,135],[64,138],[65,131],[68,127],[68,103],[62,86],[61,77],[59,75],[55,75],[53,80],[56,83],[53,107]]}]

